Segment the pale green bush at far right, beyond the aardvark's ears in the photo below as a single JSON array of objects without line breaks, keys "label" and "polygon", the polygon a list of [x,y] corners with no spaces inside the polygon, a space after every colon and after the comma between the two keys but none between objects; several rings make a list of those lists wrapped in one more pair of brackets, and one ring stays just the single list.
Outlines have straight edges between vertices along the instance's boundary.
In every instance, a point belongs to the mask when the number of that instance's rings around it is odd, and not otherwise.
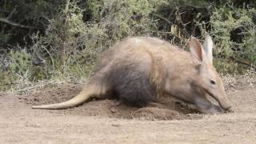
[{"label": "pale green bush at far right, beyond the aardvark's ears", "polygon": [[[214,56],[222,61],[218,62],[219,67],[226,67],[228,72],[236,73],[242,70],[236,63],[256,65],[255,18],[254,8],[235,8],[226,5],[214,9],[210,18],[210,34],[216,42]],[[226,62],[228,59],[233,62]]]}]

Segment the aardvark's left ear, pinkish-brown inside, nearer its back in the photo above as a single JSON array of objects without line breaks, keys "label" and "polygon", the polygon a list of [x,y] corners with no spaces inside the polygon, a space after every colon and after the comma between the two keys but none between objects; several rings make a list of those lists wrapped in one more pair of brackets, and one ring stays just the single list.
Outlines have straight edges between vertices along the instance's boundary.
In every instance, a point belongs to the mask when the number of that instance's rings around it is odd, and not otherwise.
[{"label": "aardvark's left ear, pinkish-brown inside, nearer its back", "polygon": [[206,58],[205,50],[202,49],[202,45],[197,38],[190,38],[190,53],[194,58],[197,58],[199,62],[202,62]]}]

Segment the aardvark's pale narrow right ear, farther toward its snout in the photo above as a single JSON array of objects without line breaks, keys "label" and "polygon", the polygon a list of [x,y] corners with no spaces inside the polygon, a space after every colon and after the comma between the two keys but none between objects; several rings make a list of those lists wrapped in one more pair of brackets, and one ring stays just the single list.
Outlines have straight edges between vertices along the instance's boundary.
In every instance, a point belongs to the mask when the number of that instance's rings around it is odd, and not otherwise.
[{"label": "aardvark's pale narrow right ear, farther toward its snout", "polygon": [[214,46],[214,42],[210,38],[209,34],[206,35],[205,42],[203,42],[202,46],[203,46],[203,49],[206,52],[206,57],[207,57],[208,61],[210,63],[213,63],[213,46]]}]

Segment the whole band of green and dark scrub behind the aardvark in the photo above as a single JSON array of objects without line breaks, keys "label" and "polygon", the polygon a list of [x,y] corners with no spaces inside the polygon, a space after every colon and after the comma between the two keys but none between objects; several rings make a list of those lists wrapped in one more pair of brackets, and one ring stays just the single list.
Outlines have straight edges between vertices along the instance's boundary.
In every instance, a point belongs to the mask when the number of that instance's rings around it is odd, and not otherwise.
[{"label": "whole band of green and dark scrub behind the aardvark", "polygon": [[254,72],[256,2],[250,0],[2,0],[0,90],[88,77],[98,53],[129,36],[186,49],[191,35],[215,42],[222,74]]}]

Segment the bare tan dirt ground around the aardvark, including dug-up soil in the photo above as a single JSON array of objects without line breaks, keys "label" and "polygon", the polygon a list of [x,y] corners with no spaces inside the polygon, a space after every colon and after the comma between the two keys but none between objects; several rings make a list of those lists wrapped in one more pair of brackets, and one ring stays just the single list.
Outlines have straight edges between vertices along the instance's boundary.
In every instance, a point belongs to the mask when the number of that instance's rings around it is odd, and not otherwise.
[{"label": "bare tan dirt ground around the aardvark, including dug-up soil", "polygon": [[1,143],[256,143],[256,82],[226,78],[234,113],[197,114],[170,101],[135,108],[92,100],[68,110],[33,110],[62,102],[82,85],[60,84],[32,94],[0,94]]}]

